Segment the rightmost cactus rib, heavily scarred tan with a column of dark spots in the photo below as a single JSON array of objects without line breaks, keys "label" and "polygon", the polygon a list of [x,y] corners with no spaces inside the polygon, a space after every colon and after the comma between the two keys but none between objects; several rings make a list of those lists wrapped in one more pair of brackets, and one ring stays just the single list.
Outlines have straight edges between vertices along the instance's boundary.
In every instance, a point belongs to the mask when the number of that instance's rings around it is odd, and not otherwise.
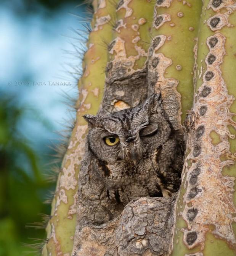
[{"label": "rightmost cactus rib, heavily scarred tan with a column of dark spots", "polygon": [[196,93],[187,118],[188,155],[177,203],[173,255],[236,255],[236,94],[231,72],[236,68],[235,9],[236,3],[227,0],[204,1],[202,6]]}]

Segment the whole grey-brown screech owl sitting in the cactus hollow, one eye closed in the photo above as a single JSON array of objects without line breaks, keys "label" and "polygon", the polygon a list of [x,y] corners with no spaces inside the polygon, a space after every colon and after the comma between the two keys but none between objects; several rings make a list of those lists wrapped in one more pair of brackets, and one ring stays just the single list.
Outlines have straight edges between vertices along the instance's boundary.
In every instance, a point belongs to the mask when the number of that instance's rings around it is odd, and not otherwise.
[{"label": "whole grey-brown screech owl sitting in the cactus hollow, one eye closed", "polygon": [[181,183],[184,142],[173,130],[161,94],[106,116],[85,115],[88,148],[110,199],[169,197]]}]

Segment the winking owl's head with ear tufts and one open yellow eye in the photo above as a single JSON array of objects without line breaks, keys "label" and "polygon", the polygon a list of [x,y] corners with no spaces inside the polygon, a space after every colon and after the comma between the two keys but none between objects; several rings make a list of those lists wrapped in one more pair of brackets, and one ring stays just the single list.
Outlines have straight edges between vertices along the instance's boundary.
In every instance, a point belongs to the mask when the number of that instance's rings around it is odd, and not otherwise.
[{"label": "winking owl's head with ear tufts and one open yellow eye", "polygon": [[91,150],[109,164],[120,159],[136,164],[164,144],[171,132],[160,94],[153,94],[143,104],[130,109],[83,117],[88,122]]}]

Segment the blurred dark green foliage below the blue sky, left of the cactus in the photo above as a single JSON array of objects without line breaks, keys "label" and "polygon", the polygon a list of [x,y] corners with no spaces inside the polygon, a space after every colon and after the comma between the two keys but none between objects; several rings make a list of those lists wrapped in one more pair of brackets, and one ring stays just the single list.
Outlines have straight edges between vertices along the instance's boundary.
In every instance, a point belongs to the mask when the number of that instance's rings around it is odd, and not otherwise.
[{"label": "blurred dark green foliage below the blue sky, left of the cactus", "polygon": [[50,168],[45,167],[50,161],[47,154],[52,150],[46,145],[36,150],[31,147],[31,141],[20,131],[25,118],[34,118],[34,111],[29,114],[15,95],[0,92],[0,256],[19,256],[26,251],[36,255],[23,243],[40,242],[45,231],[26,225],[36,222],[39,227],[39,213],[50,214],[50,206],[43,201],[49,190],[55,189],[55,184],[45,180],[45,169]]}]

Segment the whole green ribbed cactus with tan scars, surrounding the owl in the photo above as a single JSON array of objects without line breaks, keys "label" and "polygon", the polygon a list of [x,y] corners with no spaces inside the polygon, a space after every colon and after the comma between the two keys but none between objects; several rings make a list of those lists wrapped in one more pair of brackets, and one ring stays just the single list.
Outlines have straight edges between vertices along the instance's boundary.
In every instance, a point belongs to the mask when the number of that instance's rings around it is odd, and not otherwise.
[{"label": "whole green ribbed cactus with tan scars, surrounding the owl", "polygon": [[[76,124],[42,255],[236,255],[236,3],[94,0],[93,7]],[[78,173],[87,157],[82,115],[133,107],[153,91],[162,92],[172,125],[186,134],[177,198],[139,199],[100,228],[79,227]],[[131,218],[136,211],[146,219]],[[152,235],[138,229],[147,219],[144,226]],[[164,235],[155,228],[158,223],[165,226]],[[135,235],[129,240],[125,232]]]}]

